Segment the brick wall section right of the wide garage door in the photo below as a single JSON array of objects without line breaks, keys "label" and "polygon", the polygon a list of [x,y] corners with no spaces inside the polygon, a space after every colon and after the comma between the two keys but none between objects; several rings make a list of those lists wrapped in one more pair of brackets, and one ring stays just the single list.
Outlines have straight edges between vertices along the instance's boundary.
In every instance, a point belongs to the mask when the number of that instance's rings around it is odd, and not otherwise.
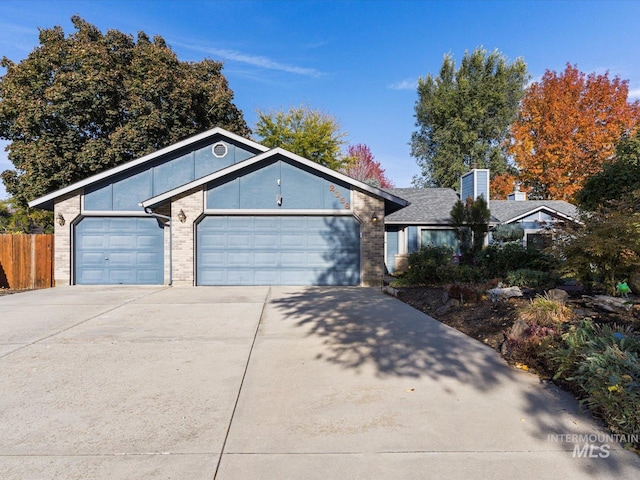
[{"label": "brick wall section right of the wide garage door", "polygon": [[384,275],[384,200],[353,190],[353,210],[362,222],[362,285],[379,287]]}]

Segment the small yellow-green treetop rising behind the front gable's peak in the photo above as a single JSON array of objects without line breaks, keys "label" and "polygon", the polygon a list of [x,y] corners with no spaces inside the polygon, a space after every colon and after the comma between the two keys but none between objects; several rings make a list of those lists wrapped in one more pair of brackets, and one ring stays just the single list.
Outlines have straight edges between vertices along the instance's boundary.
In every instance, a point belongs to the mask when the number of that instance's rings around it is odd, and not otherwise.
[{"label": "small yellow-green treetop rising behind the front gable's peak", "polygon": [[331,115],[307,106],[288,110],[258,110],[255,133],[260,143],[282,147],[334,170],[345,168],[350,158],[340,153],[346,133]]}]

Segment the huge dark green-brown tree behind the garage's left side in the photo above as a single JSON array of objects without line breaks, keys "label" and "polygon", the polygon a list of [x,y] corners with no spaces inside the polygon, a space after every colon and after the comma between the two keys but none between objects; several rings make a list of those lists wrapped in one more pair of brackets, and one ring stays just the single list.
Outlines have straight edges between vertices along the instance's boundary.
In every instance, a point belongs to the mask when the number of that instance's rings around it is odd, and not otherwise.
[{"label": "huge dark green-brown tree behind the garage's left side", "polygon": [[26,59],[1,61],[0,138],[15,166],[2,180],[21,204],[214,126],[250,133],[220,62],[71,20],[73,34],[43,29]]}]

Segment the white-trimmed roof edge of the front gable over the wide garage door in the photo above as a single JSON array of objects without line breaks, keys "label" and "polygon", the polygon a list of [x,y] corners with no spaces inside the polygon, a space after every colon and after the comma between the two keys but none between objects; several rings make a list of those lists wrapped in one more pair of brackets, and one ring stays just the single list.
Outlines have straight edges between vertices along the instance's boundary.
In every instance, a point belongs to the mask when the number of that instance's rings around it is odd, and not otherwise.
[{"label": "white-trimmed roof edge of the front gable over the wide garage door", "polygon": [[153,208],[153,207],[157,207],[163,203],[166,203],[168,201],[171,200],[172,197],[176,196],[176,195],[180,195],[181,193],[187,192],[193,188],[199,187],[201,185],[205,185],[213,180],[217,180],[219,178],[222,177],[226,177],[227,175],[231,175],[235,172],[239,172],[243,169],[246,168],[250,168],[251,166],[260,163],[262,161],[268,160],[269,158],[273,158],[273,157],[277,157],[277,156],[282,156],[285,157],[286,159],[292,161],[292,163],[298,163],[301,165],[304,165],[307,168],[310,168],[312,170],[318,171],[320,173],[323,173],[327,176],[333,177],[337,180],[340,180],[344,183],[347,183],[349,185],[354,186],[355,188],[359,189],[359,190],[364,190],[366,192],[372,193],[373,195],[376,195],[380,198],[383,198],[385,201],[385,215],[388,212],[394,212],[400,208],[405,207],[406,205],[409,204],[409,202],[407,202],[405,199],[394,195],[392,193],[389,193],[387,191],[384,191],[380,188],[377,187],[373,187],[371,185],[368,185],[364,182],[361,182],[359,180],[355,180],[354,178],[351,178],[347,175],[344,175],[342,173],[336,172],[335,170],[331,170],[330,168],[324,167],[322,165],[320,165],[319,163],[316,162],[312,162],[311,160],[307,160],[304,157],[301,157],[300,155],[296,155],[295,153],[291,153],[283,148],[273,148],[267,152],[261,153],[259,155],[255,155],[251,158],[248,158],[246,160],[243,160],[241,162],[238,163],[234,163],[233,165],[230,165],[226,168],[223,168],[222,170],[218,170],[217,172],[211,173],[209,175],[206,175],[204,177],[198,178],[196,180],[194,180],[193,182],[189,182],[186,183],[184,185],[181,185],[177,188],[174,188],[173,190],[169,190],[168,192],[162,193],[160,195],[156,195],[155,197],[149,198],[147,200],[144,200],[143,202],[140,202],[140,206],[146,208]]}]

